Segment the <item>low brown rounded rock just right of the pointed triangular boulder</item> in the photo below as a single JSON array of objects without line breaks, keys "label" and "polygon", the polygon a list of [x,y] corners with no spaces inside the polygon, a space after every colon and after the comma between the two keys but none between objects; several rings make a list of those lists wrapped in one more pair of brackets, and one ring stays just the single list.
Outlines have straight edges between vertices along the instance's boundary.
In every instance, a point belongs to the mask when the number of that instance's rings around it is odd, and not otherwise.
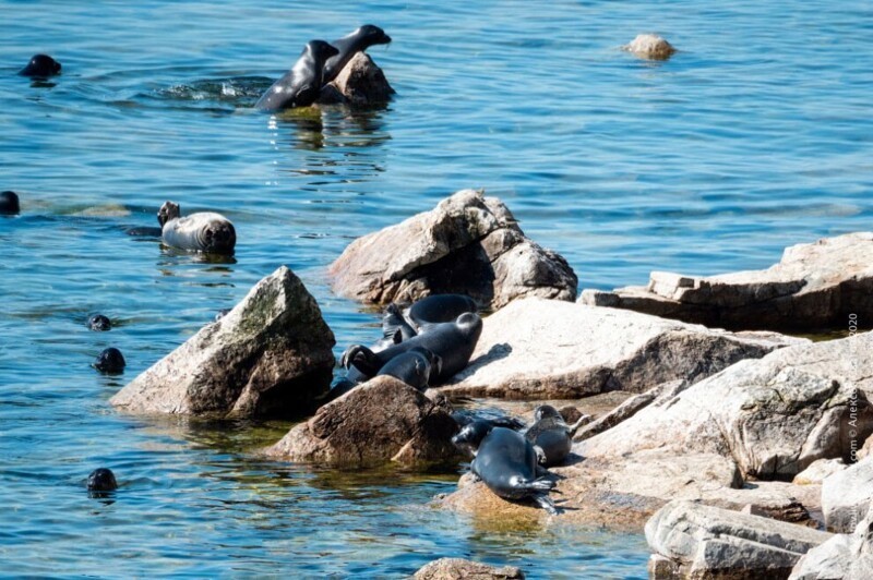
[{"label": "low brown rounded rock just right of the pointed triangular boulder", "polygon": [[443,408],[392,376],[355,387],[291,428],[265,454],[335,467],[452,462],[457,423]]}]

